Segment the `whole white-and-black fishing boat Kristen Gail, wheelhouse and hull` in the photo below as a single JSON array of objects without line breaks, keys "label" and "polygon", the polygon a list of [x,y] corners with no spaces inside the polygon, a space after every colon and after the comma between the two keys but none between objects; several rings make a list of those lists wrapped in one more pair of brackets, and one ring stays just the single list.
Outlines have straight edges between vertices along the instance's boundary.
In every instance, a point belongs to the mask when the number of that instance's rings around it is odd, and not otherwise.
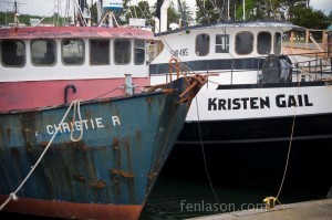
[{"label": "whole white-and-black fishing boat Kristen Gail, wheelhouse and hull", "polygon": [[[198,178],[204,146],[204,159],[216,179],[276,186],[293,145],[286,185],[328,193],[331,53],[283,54],[283,34],[298,29],[282,21],[249,21],[156,33],[163,45],[156,46],[162,50],[149,65],[153,84],[167,82],[168,75],[209,74],[176,142],[174,154],[186,163],[181,168],[175,165],[172,175],[194,169]],[[169,59],[175,61],[173,69]]]}]

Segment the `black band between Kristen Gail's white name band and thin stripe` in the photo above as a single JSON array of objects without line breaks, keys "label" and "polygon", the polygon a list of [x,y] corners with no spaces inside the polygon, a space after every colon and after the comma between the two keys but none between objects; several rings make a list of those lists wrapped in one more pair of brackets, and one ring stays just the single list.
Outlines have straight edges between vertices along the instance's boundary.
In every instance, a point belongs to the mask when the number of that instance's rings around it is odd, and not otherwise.
[{"label": "black band between Kristen Gail's white name band and thin stripe", "polygon": [[[185,123],[177,144],[249,144],[332,139],[332,114]],[[201,134],[198,130],[198,126]],[[293,128],[293,133],[292,133]]]}]

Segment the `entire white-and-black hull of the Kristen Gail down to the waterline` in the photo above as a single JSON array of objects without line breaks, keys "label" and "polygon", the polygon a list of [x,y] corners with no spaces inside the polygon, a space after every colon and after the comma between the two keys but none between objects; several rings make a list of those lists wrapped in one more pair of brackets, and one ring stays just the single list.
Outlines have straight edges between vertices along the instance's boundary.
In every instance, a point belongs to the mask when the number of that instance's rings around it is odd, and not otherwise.
[{"label": "entire white-and-black hull of the Kristen Gail down to the waterline", "polygon": [[[240,98],[247,101],[246,107]],[[329,83],[224,85],[200,91],[196,102],[176,142],[176,159],[170,156],[167,163],[167,174],[193,169],[193,177],[205,177],[204,161],[198,161],[205,158],[215,182],[278,191],[290,149],[283,189],[315,198],[328,195],[332,184],[326,175],[332,154]],[[180,158],[186,158],[186,165],[179,170]]]}]

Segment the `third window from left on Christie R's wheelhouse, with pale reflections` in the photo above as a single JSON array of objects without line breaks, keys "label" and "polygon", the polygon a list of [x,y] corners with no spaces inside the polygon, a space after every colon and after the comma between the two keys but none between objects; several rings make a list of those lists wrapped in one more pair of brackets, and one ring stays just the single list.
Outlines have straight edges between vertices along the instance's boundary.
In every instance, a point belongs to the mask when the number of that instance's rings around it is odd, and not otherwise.
[{"label": "third window from left on Christie R's wheelhouse, with pale reflections", "polygon": [[65,39],[61,42],[62,61],[66,65],[84,62],[84,42],[80,39]]}]

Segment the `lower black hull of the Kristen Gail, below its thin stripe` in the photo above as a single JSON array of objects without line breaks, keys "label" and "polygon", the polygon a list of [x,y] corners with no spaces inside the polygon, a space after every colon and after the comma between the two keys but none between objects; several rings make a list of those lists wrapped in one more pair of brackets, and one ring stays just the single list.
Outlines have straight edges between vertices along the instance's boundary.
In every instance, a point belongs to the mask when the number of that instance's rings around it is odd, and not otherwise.
[{"label": "lower black hull of the Kristen Gail, below its thin stripe", "polygon": [[[207,182],[215,187],[249,188],[261,192],[260,201],[277,196],[286,169],[289,142],[215,145],[176,144],[163,176]],[[326,198],[332,185],[332,139],[292,142],[280,202],[287,198]],[[203,155],[204,150],[204,155]],[[185,163],[184,163],[185,161]]]}]

